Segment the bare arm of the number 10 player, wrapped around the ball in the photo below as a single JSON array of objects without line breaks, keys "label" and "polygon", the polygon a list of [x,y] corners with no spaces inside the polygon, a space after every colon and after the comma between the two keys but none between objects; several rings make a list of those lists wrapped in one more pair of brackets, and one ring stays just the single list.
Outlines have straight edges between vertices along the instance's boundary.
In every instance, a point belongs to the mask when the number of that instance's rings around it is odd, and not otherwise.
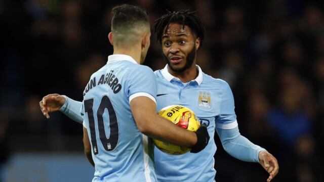
[{"label": "bare arm of the number 10 player, wrapped around the ball", "polygon": [[192,147],[197,142],[194,132],[185,130],[156,114],[155,103],[147,97],[137,97],[131,101],[131,110],[139,130],[152,137],[184,147]]}]

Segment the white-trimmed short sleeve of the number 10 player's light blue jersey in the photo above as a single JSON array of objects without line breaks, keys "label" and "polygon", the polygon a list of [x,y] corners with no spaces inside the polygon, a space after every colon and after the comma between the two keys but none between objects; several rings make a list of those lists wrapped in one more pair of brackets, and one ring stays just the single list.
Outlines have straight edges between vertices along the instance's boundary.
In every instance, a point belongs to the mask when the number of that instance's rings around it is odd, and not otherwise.
[{"label": "white-trimmed short sleeve of the number 10 player's light blue jersey", "polygon": [[139,65],[129,73],[126,90],[129,102],[136,97],[145,96],[156,103],[156,80],[154,72],[147,66]]}]

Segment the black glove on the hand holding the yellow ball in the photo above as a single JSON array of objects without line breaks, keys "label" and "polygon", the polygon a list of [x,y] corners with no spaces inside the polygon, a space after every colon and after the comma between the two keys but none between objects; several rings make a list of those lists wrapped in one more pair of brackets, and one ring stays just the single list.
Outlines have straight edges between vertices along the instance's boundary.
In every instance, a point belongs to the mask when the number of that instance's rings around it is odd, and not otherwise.
[{"label": "black glove on the hand holding the yellow ball", "polygon": [[197,135],[197,143],[191,147],[191,153],[198,153],[205,149],[209,141],[209,134],[207,131],[207,125],[201,124],[201,126],[195,131]]}]

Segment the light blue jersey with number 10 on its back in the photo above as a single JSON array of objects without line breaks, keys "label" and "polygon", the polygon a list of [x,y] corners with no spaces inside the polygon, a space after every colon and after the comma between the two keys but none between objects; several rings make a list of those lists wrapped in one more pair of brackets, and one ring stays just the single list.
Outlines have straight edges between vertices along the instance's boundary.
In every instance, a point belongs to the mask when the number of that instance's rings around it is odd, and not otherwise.
[{"label": "light blue jersey with number 10 on its back", "polygon": [[95,162],[92,181],[156,181],[147,136],[137,128],[130,101],[155,101],[153,71],[127,55],[111,55],[84,91],[81,114]]}]

